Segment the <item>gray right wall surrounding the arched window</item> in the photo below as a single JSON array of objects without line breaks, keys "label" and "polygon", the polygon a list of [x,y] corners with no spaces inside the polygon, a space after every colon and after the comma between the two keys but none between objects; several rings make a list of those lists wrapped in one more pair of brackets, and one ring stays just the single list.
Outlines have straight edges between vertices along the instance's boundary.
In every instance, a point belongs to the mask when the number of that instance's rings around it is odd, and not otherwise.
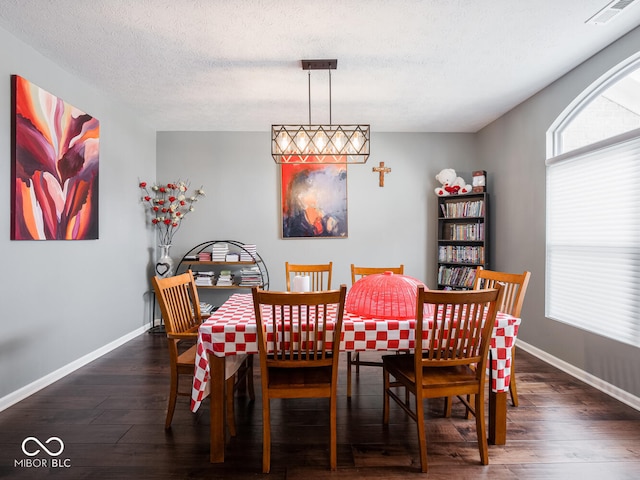
[{"label": "gray right wall surrounding the arched window", "polygon": [[[640,349],[552,321],[545,317],[544,305],[546,132],[584,89],[637,54],[638,45],[640,29],[477,135],[479,162],[493,182],[493,266],[498,270],[532,272],[518,339],[636,397],[640,397]],[[602,287],[606,288],[606,279],[602,280]],[[606,315],[602,321],[607,321]]]}]

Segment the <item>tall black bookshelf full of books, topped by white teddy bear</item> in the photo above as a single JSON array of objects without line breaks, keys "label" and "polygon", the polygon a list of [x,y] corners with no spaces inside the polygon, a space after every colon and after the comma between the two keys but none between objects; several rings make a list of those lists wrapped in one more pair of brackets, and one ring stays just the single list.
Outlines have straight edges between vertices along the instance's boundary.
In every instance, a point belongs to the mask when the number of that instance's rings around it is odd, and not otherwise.
[{"label": "tall black bookshelf full of books, topped by white teddy bear", "polygon": [[489,195],[438,197],[439,290],[473,287],[476,267],[489,268]]}]

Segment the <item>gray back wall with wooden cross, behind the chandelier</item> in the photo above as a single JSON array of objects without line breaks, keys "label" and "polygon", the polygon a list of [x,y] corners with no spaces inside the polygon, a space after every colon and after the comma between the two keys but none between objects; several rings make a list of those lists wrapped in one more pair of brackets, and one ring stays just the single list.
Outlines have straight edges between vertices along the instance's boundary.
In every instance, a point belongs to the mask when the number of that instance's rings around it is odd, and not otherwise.
[{"label": "gray back wall with wooden cross, behind the chandelier", "polygon": [[[265,126],[268,129],[270,126]],[[351,283],[349,266],[403,263],[407,275],[435,287],[435,175],[444,166],[471,181],[475,135],[371,134],[373,154],[347,170],[349,237],[282,239],[280,166],[270,155],[269,132],[159,132],[158,181],[190,179],[207,196],[174,237],[180,257],[214,239],[256,243],[269,269],[272,290],[284,290],[285,261],[334,264],[332,284]],[[392,169],[378,185],[373,166]]]}]

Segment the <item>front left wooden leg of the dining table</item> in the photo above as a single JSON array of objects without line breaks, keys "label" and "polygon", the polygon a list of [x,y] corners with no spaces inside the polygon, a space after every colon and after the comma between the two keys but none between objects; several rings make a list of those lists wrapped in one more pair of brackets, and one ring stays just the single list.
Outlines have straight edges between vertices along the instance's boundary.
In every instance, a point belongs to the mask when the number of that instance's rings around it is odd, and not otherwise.
[{"label": "front left wooden leg of the dining table", "polygon": [[210,386],[210,462],[224,462],[225,443],[225,370],[224,357],[209,354]]}]

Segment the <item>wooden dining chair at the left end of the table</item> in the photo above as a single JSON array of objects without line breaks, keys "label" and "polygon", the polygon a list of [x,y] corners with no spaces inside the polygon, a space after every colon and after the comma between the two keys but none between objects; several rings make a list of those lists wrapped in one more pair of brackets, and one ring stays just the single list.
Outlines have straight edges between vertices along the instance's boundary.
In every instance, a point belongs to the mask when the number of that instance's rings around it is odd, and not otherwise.
[{"label": "wooden dining chair at the left end of the table", "polygon": [[[179,383],[180,376],[193,376],[196,359],[195,341],[198,338],[198,327],[202,323],[202,317],[198,289],[191,270],[173,277],[153,277],[151,281],[165,322],[171,362],[169,401],[164,424],[165,429],[168,429],[173,420],[177,397],[191,396],[191,388],[182,391],[179,389]],[[232,375],[227,379],[226,388],[227,427],[232,436],[236,434],[234,391],[240,387],[246,388],[251,400],[255,399],[253,356],[247,357],[238,372],[238,375]]]}]

